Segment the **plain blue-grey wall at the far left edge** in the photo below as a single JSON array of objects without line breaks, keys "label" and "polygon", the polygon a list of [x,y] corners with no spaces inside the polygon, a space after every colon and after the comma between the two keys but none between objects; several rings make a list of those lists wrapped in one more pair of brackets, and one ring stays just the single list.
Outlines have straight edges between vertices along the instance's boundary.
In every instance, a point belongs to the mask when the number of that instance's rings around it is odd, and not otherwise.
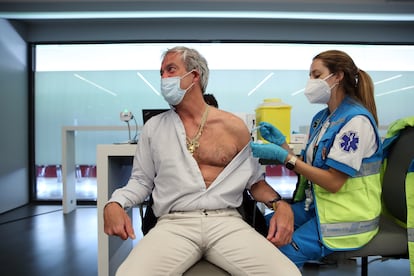
[{"label": "plain blue-grey wall at the far left edge", "polygon": [[29,202],[25,41],[0,19],[0,213]]}]

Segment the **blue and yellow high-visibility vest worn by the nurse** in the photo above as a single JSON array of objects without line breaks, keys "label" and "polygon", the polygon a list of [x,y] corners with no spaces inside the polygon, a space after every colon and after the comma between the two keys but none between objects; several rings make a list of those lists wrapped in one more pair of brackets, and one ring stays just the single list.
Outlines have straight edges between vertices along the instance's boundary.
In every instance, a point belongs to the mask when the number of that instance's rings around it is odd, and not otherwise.
[{"label": "blue and yellow high-visibility vest worn by the nurse", "polygon": [[[322,169],[329,167],[327,165],[327,162],[330,162],[329,158],[324,158],[323,152],[329,152],[340,129],[357,115],[366,116],[373,126],[376,125],[372,115],[350,98],[346,98],[329,117],[326,110],[315,115],[311,123],[309,140],[317,135],[325,120],[329,119],[330,124],[319,140],[313,166]],[[317,183],[312,185],[320,239],[329,249],[358,249],[367,244],[378,232],[381,213],[382,161],[382,144],[378,133],[376,139],[377,151],[371,157],[363,159],[360,170],[350,176],[338,192],[331,193]],[[308,146],[309,144],[306,149]],[[300,176],[294,201],[304,199],[306,186],[307,180]]]}]

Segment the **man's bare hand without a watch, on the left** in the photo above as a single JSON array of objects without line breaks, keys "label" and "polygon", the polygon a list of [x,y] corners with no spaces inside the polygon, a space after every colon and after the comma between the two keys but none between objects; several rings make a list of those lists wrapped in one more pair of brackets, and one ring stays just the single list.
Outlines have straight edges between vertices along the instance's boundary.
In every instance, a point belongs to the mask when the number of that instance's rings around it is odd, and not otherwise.
[{"label": "man's bare hand without a watch, on the left", "polygon": [[124,209],[116,202],[108,203],[104,208],[104,231],[123,240],[135,239],[131,219]]}]

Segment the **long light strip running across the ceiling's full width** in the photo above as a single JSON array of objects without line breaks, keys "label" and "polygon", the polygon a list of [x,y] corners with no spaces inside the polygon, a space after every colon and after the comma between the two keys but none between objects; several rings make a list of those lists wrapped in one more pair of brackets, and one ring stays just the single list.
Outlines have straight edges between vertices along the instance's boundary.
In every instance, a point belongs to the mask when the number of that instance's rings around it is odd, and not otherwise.
[{"label": "long light strip running across the ceiling's full width", "polygon": [[121,11],[121,12],[0,12],[8,19],[131,19],[131,18],[223,18],[223,19],[309,19],[346,21],[414,21],[414,14],[330,13],[264,11]]}]

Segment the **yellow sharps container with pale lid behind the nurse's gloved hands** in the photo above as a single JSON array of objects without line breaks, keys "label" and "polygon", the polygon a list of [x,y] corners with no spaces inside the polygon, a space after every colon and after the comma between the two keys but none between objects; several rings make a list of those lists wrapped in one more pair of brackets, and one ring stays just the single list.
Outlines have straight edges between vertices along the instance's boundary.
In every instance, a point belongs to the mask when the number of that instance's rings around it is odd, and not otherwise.
[{"label": "yellow sharps container with pale lid behind the nurse's gloved hands", "polygon": [[[256,108],[256,125],[260,122],[268,122],[277,127],[285,136],[286,142],[290,143],[290,111],[292,107],[282,102],[281,99],[264,99],[263,103]],[[257,131],[257,137],[264,140]]]}]

